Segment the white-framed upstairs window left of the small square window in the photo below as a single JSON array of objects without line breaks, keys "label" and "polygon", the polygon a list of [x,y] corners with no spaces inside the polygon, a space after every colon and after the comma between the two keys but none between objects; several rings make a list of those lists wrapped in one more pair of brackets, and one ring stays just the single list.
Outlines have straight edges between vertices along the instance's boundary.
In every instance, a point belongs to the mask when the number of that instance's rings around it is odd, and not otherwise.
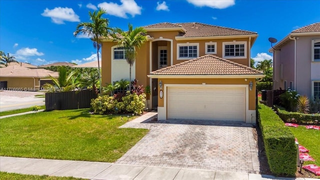
[{"label": "white-framed upstairs window left of the small square window", "polygon": [[199,43],[178,43],[177,59],[190,59],[199,56]]}]

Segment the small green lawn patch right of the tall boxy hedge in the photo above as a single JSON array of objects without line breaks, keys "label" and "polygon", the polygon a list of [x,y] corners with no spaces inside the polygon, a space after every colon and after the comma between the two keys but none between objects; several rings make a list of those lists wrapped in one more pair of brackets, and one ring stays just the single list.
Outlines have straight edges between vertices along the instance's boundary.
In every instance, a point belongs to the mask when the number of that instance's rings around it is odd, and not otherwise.
[{"label": "small green lawn patch right of the tall boxy hedge", "polygon": [[304,164],[314,163],[320,165],[320,130],[307,129],[305,126],[289,127],[293,135],[298,139],[299,144],[309,149],[309,155],[315,161],[305,161]]}]

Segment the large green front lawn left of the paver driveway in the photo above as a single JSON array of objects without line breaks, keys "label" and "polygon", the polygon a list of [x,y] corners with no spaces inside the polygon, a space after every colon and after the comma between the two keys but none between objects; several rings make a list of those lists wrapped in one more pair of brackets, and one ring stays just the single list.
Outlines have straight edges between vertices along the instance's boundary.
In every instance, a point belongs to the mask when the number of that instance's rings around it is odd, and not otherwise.
[{"label": "large green front lawn left of the paver driveway", "polygon": [[92,115],[88,109],[3,118],[0,155],[114,162],[148,131],[117,128],[124,123],[120,116]]}]

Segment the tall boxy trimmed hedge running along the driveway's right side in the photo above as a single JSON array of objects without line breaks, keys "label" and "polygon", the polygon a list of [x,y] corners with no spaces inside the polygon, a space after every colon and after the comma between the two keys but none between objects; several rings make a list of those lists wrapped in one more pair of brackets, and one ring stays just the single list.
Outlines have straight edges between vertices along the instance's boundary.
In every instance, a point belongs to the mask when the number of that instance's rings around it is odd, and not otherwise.
[{"label": "tall boxy trimmed hedge running along the driveway's right side", "polygon": [[271,172],[275,175],[294,176],[297,166],[294,135],[271,108],[259,103],[258,112]]}]

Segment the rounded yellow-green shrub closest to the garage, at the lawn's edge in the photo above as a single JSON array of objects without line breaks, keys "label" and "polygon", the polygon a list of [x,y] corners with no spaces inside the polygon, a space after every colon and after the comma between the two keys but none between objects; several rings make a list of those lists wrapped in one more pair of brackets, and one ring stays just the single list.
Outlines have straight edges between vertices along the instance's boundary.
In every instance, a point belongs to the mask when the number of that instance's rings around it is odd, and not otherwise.
[{"label": "rounded yellow-green shrub closest to the garage, at the lawn's edge", "polygon": [[131,113],[141,114],[145,107],[145,93],[137,95],[136,93],[130,93],[122,97],[125,110]]}]

